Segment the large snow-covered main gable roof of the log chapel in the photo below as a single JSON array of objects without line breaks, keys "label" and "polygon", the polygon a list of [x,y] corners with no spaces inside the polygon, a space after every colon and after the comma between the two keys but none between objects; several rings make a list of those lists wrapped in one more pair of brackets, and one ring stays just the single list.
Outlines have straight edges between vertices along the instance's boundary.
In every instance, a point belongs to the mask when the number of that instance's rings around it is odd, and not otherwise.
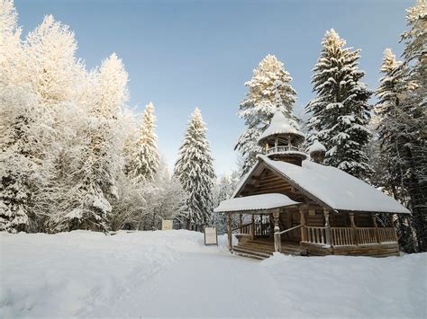
[{"label": "large snow-covered main gable roof of the log chapel", "polygon": [[302,189],[332,209],[411,214],[395,199],[338,168],[308,160],[303,161],[302,166],[298,166],[271,160],[266,155],[258,155],[258,157],[259,163],[245,175],[233,196],[241,191],[245,181],[250,178],[251,172],[255,171],[255,167],[263,162],[271,170],[284,176],[295,188]]}]

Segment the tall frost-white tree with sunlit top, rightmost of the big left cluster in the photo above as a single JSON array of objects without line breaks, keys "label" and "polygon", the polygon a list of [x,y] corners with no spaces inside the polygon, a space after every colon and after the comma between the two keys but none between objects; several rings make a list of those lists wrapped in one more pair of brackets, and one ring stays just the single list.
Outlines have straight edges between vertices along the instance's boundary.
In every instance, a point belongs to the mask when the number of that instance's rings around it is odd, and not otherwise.
[{"label": "tall frost-white tree with sunlit top, rightmost of the big left cluster", "polygon": [[123,169],[126,137],[121,111],[128,97],[122,60],[115,54],[105,59],[87,85],[92,94],[86,104],[87,119],[79,121],[78,161],[65,170],[67,194],[59,212],[51,217],[54,231],[106,230],[110,201],[118,197],[116,178]]}]

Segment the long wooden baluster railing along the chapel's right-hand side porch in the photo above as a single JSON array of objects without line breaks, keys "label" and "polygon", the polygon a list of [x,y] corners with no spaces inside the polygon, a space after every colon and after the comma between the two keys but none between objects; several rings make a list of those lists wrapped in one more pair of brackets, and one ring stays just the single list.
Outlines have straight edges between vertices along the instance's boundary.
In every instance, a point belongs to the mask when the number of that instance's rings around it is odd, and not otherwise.
[{"label": "long wooden baluster railing along the chapel's right-hand side porch", "polygon": [[[304,226],[303,238],[305,243],[332,244],[348,246],[357,244],[396,243],[395,228],[393,227],[313,227]],[[330,232],[330,243],[328,233]]]}]

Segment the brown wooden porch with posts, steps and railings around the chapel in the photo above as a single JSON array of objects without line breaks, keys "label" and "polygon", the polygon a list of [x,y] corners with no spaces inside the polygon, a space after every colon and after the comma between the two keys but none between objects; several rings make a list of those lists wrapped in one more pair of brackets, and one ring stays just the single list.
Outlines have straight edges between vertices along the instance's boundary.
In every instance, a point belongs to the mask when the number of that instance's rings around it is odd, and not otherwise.
[{"label": "brown wooden porch with posts, steps and railings around the chapel", "polygon": [[[347,213],[346,216],[344,213],[334,213],[335,216],[330,218],[330,213],[325,210],[323,218],[320,218],[315,213],[308,217],[307,209],[245,213],[250,216],[250,222],[243,224],[240,214],[239,226],[235,228],[231,227],[232,214],[228,214],[229,245],[234,253],[258,259],[268,258],[273,252],[309,256],[335,254],[380,257],[399,254],[391,215],[390,226],[377,226],[375,214],[359,214],[359,218],[355,218],[355,213]],[[331,219],[334,226],[331,225]],[[349,225],[344,226],[347,219]],[[360,226],[356,226],[356,219]],[[323,226],[312,226],[320,222]],[[235,247],[231,244],[232,235],[239,239]]]}]

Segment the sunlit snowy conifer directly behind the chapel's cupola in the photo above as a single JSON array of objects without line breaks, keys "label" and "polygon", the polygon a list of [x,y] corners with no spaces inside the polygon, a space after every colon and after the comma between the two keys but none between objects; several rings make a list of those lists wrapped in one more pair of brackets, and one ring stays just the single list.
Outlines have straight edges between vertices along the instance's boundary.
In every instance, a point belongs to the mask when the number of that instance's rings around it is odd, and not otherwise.
[{"label": "sunlit snowy conifer directly behind the chapel's cupola", "polygon": [[238,115],[245,120],[246,129],[239,137],[235,149],[244,156],[243,173],[255,164],[256,156],[263,152],[258,145],[259,135],[267,128],[277,107],[282,107],[286,118],[293,116],[296,92],[291,86],[292,77],[282,62],[268,55],[253,70],[252,79],[245,85],[249,90],[241,102]]}]

